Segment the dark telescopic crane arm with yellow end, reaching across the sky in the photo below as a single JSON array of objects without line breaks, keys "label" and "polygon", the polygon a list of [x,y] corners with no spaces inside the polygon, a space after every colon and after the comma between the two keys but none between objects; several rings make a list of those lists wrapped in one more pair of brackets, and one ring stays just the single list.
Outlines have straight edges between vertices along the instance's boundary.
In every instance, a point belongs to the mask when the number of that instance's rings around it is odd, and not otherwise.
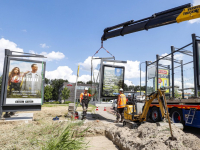
[{"label": "dark telescopic crane arm with yellow end, reaching across the sky", "polygon": [[180,23],[200,17],[200,5],[191,7],[191,4],[185,4],[159,13],[141,20],[130,20],[112,27],[104,29],[101,37],[102,41],[116,36],[124,36],[129,33],[148,30],[172,23]]}]

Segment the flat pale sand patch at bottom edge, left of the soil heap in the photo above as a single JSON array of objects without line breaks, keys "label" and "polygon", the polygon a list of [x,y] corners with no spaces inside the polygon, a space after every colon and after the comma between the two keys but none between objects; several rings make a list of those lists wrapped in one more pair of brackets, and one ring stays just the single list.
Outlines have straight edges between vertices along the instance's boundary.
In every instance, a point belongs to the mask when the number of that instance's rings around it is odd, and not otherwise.
[{"label": "flat pale sand patch at bottom edge, left of the soil heap", "polygon": [[111,140],[105,136],[86,137],[86,142],[89,142],[87,150],[119,150]]}]

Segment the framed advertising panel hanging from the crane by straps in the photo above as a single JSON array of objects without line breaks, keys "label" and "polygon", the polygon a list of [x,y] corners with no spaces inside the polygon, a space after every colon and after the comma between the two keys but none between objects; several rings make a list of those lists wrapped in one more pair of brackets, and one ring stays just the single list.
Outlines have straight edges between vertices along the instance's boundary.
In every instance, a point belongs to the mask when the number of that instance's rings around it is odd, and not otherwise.
[{"label": "framed advertising panel hanging from the crane by straps", "polygon": [[124,88],[123,66],[103,65],[102,97],[117,97],[119,89]]}]

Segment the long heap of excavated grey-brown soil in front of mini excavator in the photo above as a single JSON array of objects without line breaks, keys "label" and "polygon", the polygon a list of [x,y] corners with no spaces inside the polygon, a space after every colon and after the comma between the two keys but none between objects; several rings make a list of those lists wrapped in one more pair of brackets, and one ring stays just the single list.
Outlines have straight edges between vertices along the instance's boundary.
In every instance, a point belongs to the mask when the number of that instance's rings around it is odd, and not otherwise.
[{"label": "long heap of excavated grey-brown soil in front of mini excavator", "polygon": [[172,125],[173,135],[177,140],[171,140],[169,126],[157,126],[155,123],[144,123],[137,129],[119,127],[114,123],[101,121],[87,122],[79,131],[88,128],[85,136],[105,135],[121,150],[199,150],[200,139],[192,134],[184,133]]}]

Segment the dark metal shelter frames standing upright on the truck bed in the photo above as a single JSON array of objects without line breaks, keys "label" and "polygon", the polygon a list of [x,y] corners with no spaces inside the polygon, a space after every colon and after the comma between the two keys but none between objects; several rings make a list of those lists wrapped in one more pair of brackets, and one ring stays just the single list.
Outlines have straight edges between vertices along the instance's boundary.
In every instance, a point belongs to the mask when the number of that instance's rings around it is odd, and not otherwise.
[{"label": "dark metal shelter frames standing upright on the truck bed", "polygon": [[[188,89],[194,89],[194,97],[198,97],[198,90],[200,90],[200,37],[196,36],[195,34],[192,34],[192,42],[181,47],[181,48],[175,48],[174,46],[171,46],[171,53],[167,54],[166,56],[159,56],[156,55],[156,61],[150,63],[150,61],[146,61],[146,78],[145,78],[145,85],[146,85],[146,91],[147,91],[147,71],[148,71],[148,66],[150,65],[155,65],[156,66],[156,84],[157,84],[157,88],[158,88],[158,70],[159,67],[163,67],[166,69],[169,69],[169,71],[171,71],[172,73],[172,98],[174,98],[174,69],[181,67],[181,82],[182,82],[182,89],[180,89],[182,91],[182,98],[184,98],[184,90],[188,90]],[[199,44],[199,47],[198,47]],[[188,51],[185,50],[186,47],[192,45],[193,46],[193,51]],[[187,62],[187,63],[183,63],[183,60],[176,60],[174,59],[174,53],[179,52],[188,56],[193,57],[193,61]],[[171,57],[169,57],[171,55]],[[159,64],[160,60],[168,60],[171,61],[171,68],[170,65],[168,66],[164,66]],[[179,66],[174,67],[174,63],[180,64]],[[184,88],[184,80],[183,80],[183,67],[184,65],[187,65],[189,63],[193,63],[194,66],[194,88]],[[170,73],[169,73],[170,74]],[[169,79],[170,82],[170,79]],[[170,84],[170,83],[169,83]],[[170,93],[170,92],[169,92]],[[146,92],[146,96],[147,96],[147,92]]]}]

